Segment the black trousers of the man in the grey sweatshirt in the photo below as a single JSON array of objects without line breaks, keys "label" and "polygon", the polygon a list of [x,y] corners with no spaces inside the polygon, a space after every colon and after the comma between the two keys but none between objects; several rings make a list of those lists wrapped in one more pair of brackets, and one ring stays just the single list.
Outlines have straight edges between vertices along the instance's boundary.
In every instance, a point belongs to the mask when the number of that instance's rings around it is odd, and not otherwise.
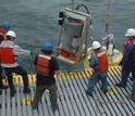
[{"label": "black trousers of the man in the grey sweatshirt", "polygon": [[28,87],[28,77],[27,77],[27,72],[21,67],[21,66],[16,66],[16,67],[4,67],[4,73],[8,77],[8,82],[9,82],[9,87],[11,90],[14,90],[14,85],[13,85],[13,75],[12,73],[15,73],[17,75],[21,75],[23,77],[23,81],[24,81],[24,88]]}]

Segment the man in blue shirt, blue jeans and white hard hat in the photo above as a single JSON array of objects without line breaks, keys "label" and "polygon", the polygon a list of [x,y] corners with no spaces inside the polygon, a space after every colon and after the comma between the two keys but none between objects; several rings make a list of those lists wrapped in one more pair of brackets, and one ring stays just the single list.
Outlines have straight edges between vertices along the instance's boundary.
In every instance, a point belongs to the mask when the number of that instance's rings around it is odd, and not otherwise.
[{"label": "man in blue shirt, blue jeans and white hard hat", "polygon": [[108,74],[108,56],[106,51],[101,49],[101,44],[98,41],[93,42],[93,54],[90,57],[89,66],[93,67],[94,74],[89,77],[88,80],[88,89],[86,93],[89,96],[93,96],[94,87],[96,83],[101,80],[101,90],[107,93],[108,91],[108,82],[107,82],[107,74]]}]

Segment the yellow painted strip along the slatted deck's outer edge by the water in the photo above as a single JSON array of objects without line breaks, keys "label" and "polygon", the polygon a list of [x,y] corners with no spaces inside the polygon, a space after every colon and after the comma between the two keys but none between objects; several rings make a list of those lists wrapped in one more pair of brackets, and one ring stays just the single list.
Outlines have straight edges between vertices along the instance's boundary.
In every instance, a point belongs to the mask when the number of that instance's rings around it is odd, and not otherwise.
[{"label": "yellow painted strip along the slatted deck's outer edge by the water", "polygon": [[[113,72],[112,72],[113,70]],[[120,75],[121,74],[121,66],[111,66],[109,68],[109,73],[111,75]],[[109,76],[111,76],[110,74],[108,73]],[[56,79],[59,79],[59,80],[63,80],[63,79],[70,79],[70,78],[85,78],[85,77],[90,77],[93,74],[93,69],[89,68],[89,69],[85,69],[85,70],[79,70],[79,72],[68,72],[68,73],[62,73],[60,75],[54,75],[54,78]],[[74,75],[74,76],[73,76]],[[8,79],[2,79],[3,83],[5,86],[8,86]],[[30,74],[28,75],[28,81],[29,82],[35,82],[36,81],[36,74]],[[17,75],[14,75],[13,76],[13,82],[14,85],[20,85],[20,83],[23,83],[23,78],[22,76],[17,76]]]}]

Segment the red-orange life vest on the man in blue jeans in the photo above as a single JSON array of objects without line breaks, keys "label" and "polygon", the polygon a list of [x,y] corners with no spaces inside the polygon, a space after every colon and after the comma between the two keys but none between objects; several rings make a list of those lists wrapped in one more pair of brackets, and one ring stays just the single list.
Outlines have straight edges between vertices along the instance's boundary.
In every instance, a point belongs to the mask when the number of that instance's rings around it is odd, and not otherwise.
[{"label": "red-orange life vest on the man in blue jeans", "polygon": [[99,70],[105,72],[108,69],[108,56],[105,51],[96,52],[96,56],[99,59]]}]

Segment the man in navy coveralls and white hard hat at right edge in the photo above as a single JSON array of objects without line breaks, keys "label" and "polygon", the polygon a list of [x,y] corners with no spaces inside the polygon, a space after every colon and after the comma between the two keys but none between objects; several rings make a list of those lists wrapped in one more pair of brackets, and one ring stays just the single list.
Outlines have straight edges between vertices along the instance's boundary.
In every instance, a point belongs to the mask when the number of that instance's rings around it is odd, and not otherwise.
[{"label": "man in navy coveralls and white hard hat at right edge", "polygon": [[115,83],[116,87],[125,88],[130,73],[132,78],[135,76],[135,29],[128,28],[125,33],[127,38],[123,48],[123,57],[121,61],[122,65],[122,80]]}]

